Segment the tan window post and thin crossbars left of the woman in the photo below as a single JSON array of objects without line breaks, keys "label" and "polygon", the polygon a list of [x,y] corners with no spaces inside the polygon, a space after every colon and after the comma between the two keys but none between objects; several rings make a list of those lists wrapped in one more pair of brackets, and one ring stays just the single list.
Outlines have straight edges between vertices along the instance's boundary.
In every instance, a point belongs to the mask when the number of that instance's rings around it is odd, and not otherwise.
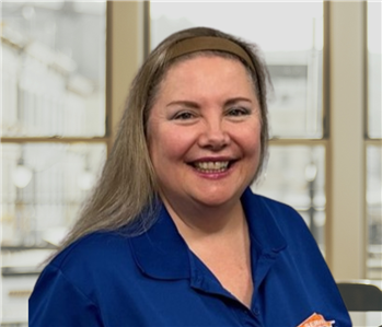
[{"label": "tan window post and thin crossbars left of the woman", "polygon": [[[109,154],[115,138],[116,128],[120,119],[128,86],[132,80],[137,67],[143,58],[143,5],[140,2],[114,2],[106,1],[106,34],[105,34],[105,135],[102,137],[8,137],[1,136],[0,151],[2,144],[38,144],[38,143],[99,143],[105,144],[106,155]],[[127,33],[126,33],[127,31]],[[134,42],[136,47],[126,45]],[[2,44],[1,44],[2,46]],[[129,60],[126,60],[129,58]],[[2,250],[30,250],[53,249],[47,244],[43,246],[2,245]]]}]

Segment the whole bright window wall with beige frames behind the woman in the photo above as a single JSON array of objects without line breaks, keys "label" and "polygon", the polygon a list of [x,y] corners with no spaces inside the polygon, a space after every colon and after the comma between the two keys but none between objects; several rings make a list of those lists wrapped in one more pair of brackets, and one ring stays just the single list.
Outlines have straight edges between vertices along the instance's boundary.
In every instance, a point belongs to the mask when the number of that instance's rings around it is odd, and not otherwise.
[{"label": "whole bright window wall with beige frames behind the woman", "polygon": [[382,279],[381,1],[1,0],[1,318],[27,297],[113,143],[129,83],[173,32],[266,59],[270,149],[252,188],[296,208],[337,280]]}]

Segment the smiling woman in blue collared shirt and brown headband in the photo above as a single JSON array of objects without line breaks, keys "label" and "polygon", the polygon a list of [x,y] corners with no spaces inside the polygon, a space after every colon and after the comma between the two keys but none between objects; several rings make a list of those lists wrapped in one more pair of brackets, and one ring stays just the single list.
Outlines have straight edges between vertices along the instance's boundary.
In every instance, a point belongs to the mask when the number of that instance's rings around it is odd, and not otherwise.
[{"label": "smiling woman in blue collared shirt and brown headband", "polygon": [[253,195],[267,72],[211,28],[136,77],[101,180],[30,299],[30,326],[350,326],[299,214]]}]

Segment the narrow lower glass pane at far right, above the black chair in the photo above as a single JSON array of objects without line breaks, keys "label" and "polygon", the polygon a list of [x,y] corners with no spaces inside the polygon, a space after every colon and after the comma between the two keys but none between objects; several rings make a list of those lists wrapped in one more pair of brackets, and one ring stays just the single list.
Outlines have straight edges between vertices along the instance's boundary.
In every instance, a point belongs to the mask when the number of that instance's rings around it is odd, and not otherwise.
[{"label": "narrow lower glass pane at far right, above the black chair", "polygon": [[382,276],[382,148],[367,150],[367,219],[369,226],[367,277]]}]

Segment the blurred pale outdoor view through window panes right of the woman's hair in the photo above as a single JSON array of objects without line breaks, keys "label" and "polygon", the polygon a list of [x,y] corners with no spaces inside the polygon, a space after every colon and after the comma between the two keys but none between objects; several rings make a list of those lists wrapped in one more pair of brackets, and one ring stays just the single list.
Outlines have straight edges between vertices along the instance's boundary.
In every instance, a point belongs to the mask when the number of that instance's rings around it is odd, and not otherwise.
[{"label": "blurred pale outdoor view through window panes right of the woman's hair", "polygon": [[[219,5],[219,14],[210,15]],[[368,1],[367,277],[382,273],[381,3]],[[263,50],[274,92],[269,97],[270,157],[259,194],[293,206],[325,255],[325,160],[328,113],[323,104],[324,5],[315,2],[150,2],[151,48],[167,35],[210,26]],[[232,13],[240,13],[234,15]],[[229,23],[228,23],[229,22]],[[379,142],[379,145],[375,143]],[[312,173],[314,172],[314,174]]]}]

